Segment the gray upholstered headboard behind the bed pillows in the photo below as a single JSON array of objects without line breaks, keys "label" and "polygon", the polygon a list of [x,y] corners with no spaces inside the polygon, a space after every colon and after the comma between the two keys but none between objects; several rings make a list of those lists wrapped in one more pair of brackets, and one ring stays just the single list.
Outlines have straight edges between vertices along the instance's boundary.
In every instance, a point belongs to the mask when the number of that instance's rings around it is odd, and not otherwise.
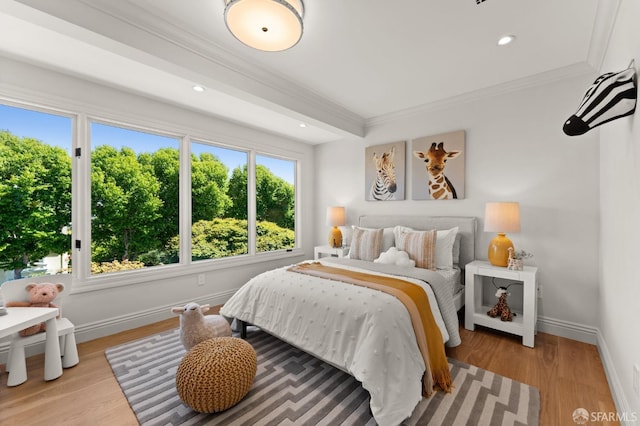
[{"label": "gray upholstered headboard behind the bed pillows", "polygon": [[458,227],[460,238],[460,267],[475,260],[476,218],[467,216],[360,216],[359,226],[364,228],[388,228],[396,225],[415,230],[444,230]]}]

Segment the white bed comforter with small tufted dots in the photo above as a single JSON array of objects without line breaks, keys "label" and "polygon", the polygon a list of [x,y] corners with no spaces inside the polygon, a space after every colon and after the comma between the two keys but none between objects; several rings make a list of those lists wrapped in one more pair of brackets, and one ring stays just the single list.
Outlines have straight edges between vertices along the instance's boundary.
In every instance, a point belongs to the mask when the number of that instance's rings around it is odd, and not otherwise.
[{"label": "white bed comforter with small tufted dots", "polygon": [[[331,266],[363,270],[333,262]],[[251,279],[220,313],[347,371],[371,395],[371,412],[379,425],[398,425],[409,417],[422,398],[425,365],[404,305],[380,291],[286,269]],[[405,279],[426,290],[446,342],[449,333],[431,287]]]}]

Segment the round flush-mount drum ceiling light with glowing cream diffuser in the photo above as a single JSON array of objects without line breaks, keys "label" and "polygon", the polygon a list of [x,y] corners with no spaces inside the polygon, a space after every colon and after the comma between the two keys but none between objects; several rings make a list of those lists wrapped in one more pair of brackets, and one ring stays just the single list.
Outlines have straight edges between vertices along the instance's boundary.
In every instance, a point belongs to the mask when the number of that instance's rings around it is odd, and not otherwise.
[{"label": "round flush-mount drum ceiling light with glowing cream diffuser", "polygon": [[224,21],[235,38],[254,49],[279,52],[302,37],[302,0],[224,0]]}]

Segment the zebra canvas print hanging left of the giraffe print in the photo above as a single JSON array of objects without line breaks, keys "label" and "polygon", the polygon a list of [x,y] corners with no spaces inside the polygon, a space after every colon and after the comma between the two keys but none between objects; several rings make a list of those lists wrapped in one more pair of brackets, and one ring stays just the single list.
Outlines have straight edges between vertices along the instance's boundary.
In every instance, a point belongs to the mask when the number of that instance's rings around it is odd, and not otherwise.
[{"label": "zebra canvas print hanging left of the giraffe print", "polygon": [[367,201],[404,200],[405,142],[365,149]]}]

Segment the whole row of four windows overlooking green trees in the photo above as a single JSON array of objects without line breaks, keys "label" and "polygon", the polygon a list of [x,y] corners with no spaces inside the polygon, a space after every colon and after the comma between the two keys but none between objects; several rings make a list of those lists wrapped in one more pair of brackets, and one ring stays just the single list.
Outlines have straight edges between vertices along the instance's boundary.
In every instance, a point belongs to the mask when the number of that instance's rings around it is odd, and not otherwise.
[{"label": "whole row of four windows overlooking green trees", "polygon": [[0,104],[3,281],[109,285],[296,248],[297,160],[65,114]]}]

